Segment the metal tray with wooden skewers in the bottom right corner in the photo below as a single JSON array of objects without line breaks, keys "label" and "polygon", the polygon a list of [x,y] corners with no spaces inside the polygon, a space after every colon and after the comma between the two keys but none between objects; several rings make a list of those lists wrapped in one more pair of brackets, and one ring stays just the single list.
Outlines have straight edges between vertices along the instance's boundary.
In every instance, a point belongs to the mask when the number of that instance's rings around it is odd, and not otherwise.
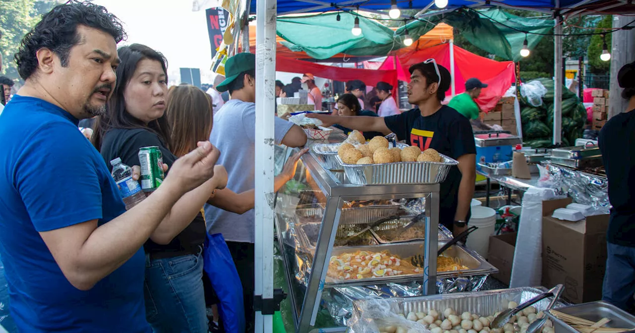
[{"label": "metal tray with wooden skewers in the bottom right corner", "polygon": [[[566,313],[567,315],[591,320],[592,322],[597,322],[598,320],[606,317],[611,321],[608,322],[605,327],[635,329],[635,317],[633,315],[604,301],[565,306],[564,308],[559,308],[558,311]],[[549,312],[547,312],[547,317],[554,322],[556,332],[580,333],[578,330],[574,329],[562,320],[559,320],[556,316]]]}]

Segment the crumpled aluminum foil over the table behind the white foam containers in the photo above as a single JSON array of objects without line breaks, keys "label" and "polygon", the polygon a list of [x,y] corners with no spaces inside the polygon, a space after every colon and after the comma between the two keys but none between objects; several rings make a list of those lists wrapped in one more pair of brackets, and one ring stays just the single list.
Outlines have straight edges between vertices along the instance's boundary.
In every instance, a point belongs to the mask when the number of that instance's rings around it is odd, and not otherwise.
[{"label": "crumpled aluminum foil over the table behind the white foam containers", "polygon": [[542,164],[542,166],[547,169],[550,175],[551,186],[566,190],[573,202],[592,206],[594,214],[608,214],[611,204],[608,201],[608,180],[606,178],[549,163]]}]

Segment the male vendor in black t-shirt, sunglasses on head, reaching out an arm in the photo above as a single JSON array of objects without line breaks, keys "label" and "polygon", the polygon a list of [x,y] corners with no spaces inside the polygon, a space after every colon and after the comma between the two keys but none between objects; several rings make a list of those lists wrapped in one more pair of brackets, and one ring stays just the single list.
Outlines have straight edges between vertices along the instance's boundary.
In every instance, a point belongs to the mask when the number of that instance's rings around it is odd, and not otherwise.
[{"label": "male vendor in black t-shirt, sunglasses on head, reaching out an arm", "polygon": [[[437,70],[438,68],[438,70]],[[440,76],[440,77],[439,77]],[[311,114],[324,126],[340,124],[359,131],[397,134],[399,140],[421,150],[434,148],[455,160],[446,181],[441,183],[439,222],[456,234],[467,228],[476,179],[476,146],[470,122],[453,108],[441,105],[450,89],[450,72],[434,62],[410,67],[408,102],[417,105],[390,117],[337,117]]]}]

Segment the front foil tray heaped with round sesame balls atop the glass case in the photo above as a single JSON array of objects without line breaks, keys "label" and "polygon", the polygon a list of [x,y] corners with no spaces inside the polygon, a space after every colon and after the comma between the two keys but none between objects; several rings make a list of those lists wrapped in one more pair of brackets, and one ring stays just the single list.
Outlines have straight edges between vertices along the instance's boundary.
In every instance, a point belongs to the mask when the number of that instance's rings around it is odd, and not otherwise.
[{"label": "front foil tray heaped with round sesame balls atop the glass case", "polygon": [[399,185],[437,184],[445,181],[450,167],[458,165],[456,160],[439,154],[443,162],[397,162],[386,164],[344,164],[337,154],[335,159],[342,164],[352,184]]}]

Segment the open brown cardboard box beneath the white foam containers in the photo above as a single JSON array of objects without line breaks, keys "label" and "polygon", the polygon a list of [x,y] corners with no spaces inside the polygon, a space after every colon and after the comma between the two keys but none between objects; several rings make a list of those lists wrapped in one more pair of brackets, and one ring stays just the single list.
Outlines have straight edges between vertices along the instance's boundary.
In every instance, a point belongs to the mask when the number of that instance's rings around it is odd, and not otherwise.
[{"label": "open brown cardboard box beneath the white foam containers", "polygon": [[551,217],[571,199],[543,202],[542,285],[564,284],[563,297],[572,303],[598,301],[606,268],[606,228],[609,215],[577,222]]}]

